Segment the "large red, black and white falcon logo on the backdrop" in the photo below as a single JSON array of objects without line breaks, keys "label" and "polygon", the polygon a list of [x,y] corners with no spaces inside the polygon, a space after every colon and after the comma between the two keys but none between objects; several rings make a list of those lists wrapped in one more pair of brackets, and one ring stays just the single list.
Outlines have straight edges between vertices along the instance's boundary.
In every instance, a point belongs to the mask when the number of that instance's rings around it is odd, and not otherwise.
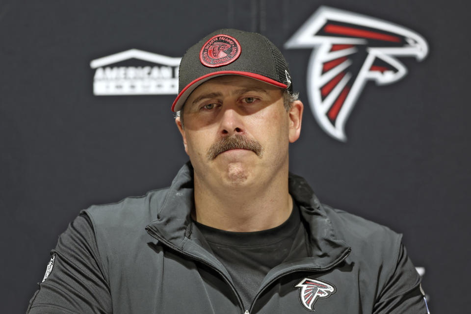
[{"label": "large red, black and white falcon logo on the backdrop", "polygon": [[396,57],[428,53],[418,33],[386,21],[320,7],[285,48],[315,48],[308,65],[308,98],[314,117],[330,136],[346,141],[345,122],[367,80],[391,84],[407,74]]}]

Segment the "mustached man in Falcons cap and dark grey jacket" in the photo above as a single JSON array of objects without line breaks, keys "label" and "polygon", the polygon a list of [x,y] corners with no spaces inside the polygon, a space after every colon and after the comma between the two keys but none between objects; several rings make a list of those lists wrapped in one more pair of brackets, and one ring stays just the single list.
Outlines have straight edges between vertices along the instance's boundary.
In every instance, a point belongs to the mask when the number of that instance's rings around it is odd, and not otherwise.
[{"label": "mustached man in Falcons cap and dark grey jacket", "polygon": [[303,104],[268,39],[209,34],[179,91],[190,162],[169,188],[82,211],[28,313],[427,313],[401,236],[288,173]]}]

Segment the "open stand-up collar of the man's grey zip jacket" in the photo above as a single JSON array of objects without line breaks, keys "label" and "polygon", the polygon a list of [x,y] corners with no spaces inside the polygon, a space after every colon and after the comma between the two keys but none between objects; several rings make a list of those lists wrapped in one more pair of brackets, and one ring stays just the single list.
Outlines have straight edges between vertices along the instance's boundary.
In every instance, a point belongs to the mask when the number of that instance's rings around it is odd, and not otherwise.
[{"label": "open stand-up collar of the man's grey zip jacket", "polygon": [[[289,174],[289,193],[301,210],[310,243],[308,247],[314,258],[315,268],[329,268],[337,263],[350,250],[339,239],[332,223],[320,204],[313,190],[300,176]],[[178,172],[165,196],[163,205],[158,199],[151,199],[151,210],[157,210],[157,220],[147,227],[165,244],[196,256],[211,259],[209,252],[203,249],[197,236],[192,236],[191,210],[194,207],[193,167],[188,161]],[[312,261],[311,261],[312,263]]]}]

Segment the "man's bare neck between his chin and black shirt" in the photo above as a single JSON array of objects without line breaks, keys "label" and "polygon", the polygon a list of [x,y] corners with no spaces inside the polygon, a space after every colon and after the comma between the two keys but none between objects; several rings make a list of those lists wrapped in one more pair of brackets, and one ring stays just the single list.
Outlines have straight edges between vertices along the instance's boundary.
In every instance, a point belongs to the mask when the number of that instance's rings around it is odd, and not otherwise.
[{"label": "man's bare neck between his chin and black shirt", "polygon": [[288,173],[269,184],[244,188],[206,186],[195,175],[193,219],[212,228],[253,232],[285,222],[293,207]]}]

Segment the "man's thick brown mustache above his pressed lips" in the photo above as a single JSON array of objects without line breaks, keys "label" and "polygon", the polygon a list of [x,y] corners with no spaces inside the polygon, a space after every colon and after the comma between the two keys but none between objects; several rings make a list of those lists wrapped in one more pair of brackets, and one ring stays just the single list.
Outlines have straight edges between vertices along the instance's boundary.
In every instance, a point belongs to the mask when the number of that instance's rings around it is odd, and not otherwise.
[{"label": "man's thick brown mustache above his pressed lips", "polygon": [[249,139],[245,135],[235,134],[233,136],[221,137],[217,142],[211,145],[208,150],[209,160],[213,160],[217,155],[231,149],[246,149],[254,152],[258,157],[262,157],[263,148],[260,143],[254,139]]}]

